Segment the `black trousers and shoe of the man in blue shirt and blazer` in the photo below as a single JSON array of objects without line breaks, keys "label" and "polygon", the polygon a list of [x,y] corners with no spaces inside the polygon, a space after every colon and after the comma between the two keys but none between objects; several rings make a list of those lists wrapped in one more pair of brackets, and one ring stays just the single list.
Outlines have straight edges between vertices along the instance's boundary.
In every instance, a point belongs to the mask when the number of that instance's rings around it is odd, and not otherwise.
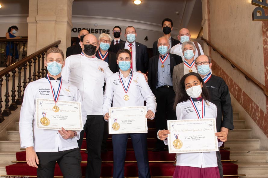
[{"label": "black trousers and shoe of the man in blue shirt and blazer", "polygon": [[[155,113],[155,128],[156,131],[166,129],[166,120],[176,120],[176,111],[173,110],[175,92],[173,88],[158,88],[155,92],[156,97],[156,113]],[[164,142],[157,139],[155,147],[164,149]]]}]

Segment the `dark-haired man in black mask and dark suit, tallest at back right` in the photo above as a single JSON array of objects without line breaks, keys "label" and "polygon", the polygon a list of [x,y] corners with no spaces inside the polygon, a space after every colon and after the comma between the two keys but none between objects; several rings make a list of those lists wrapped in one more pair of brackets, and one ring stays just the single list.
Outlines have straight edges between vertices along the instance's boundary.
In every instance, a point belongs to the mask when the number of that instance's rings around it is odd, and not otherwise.
[{"label": "dark-haired man in black mask and dark suit, tallest at back right", "polygon": [[[173,30],[173,22],[171,19],[165,18],[162,21],[162,30],[164,32],[164,36],[169,39],[169,44],[170,44],[169,51],[170,51],[171,47],[175,46],[176,44],[179,44],[179,40],[176,40],[171,37],[171,31]],[[154,41],[154,44],[153,44],[153,55],[154,56],[159,55],[158,49],[157,49],[157,41]]]}]

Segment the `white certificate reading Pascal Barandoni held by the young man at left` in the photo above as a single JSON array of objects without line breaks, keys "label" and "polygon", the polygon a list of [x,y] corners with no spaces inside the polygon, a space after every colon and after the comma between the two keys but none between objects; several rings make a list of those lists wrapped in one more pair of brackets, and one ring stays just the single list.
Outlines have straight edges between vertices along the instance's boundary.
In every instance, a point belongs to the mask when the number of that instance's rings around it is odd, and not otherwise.
[{"label": "white certificate reading Pascal Barandoni held by the young man at left", "polygon": [[61,130],[83,130],[81,103],[76,101],[57,101],[36,99],[37,128]]}]

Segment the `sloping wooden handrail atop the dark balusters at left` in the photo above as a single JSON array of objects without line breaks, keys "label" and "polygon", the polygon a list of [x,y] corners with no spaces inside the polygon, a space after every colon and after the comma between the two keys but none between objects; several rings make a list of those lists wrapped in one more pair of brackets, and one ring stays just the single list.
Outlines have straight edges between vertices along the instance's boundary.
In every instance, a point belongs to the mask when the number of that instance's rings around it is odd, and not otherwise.
[{"label": "sloping wooden handrail atop the dark balusters at left", "polygon": [[[21,38],[22,39],[22,38]],[[55,47],[56,45],[59,45],[61,43],[61,40],[55,41],[54,43],[51,43],[47,45],[46,47],[43,47],[42,49],[36,51],[35,53],[31,54],[30,56],[27,56],[18,62],[15,62],[14,64],[6,67],[5,69],[0,71],[0,77],[3,77],[5,74],[8,74],[9,72],[13,71],[14,69],[17,69],[18,67],[22,66],[26,62],[32,60],[33,58],[37,57],[38,55],[46,52],[49,48]]]}]

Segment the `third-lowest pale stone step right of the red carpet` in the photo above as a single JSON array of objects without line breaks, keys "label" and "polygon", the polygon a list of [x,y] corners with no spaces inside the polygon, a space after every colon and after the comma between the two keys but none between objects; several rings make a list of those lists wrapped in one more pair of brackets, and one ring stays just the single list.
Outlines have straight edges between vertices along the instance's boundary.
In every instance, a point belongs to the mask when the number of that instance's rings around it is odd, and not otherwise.
[{"label": "third-lowest pale stone step right of the red carpet", "polygon": [[[260,140],[259,139],[227,139],[224,143],[225,147],[230,147],[231,149],[259,149]],[[230,150],[231,151],[231,150]]]}]

